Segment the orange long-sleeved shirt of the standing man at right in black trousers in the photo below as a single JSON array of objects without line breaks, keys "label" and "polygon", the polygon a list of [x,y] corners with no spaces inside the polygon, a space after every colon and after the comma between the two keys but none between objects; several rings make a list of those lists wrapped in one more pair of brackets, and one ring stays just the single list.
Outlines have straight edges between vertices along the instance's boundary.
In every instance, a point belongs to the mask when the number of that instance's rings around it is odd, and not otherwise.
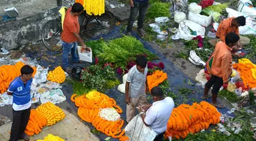
[{"label": "orange long-sleeved shirt of the standing man at right in black trousers", "polygon": [[228,47],[223,41],[219,41],[214,49],[214,54],[208,60],[208,71],[217,77],[223,78],[223,83],[229,81],[232,69],[231,47]]}]

